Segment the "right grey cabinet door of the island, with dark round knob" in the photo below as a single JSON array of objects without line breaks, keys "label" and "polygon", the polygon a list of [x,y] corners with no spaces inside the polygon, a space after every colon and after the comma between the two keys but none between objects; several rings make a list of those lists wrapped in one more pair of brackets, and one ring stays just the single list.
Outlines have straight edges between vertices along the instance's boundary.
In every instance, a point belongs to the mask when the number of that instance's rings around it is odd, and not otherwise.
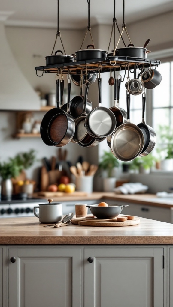
[{"label": "right grey cabinet door of the island, with dark round knob", "polygon": [[163,307],[162,248],[85,248],[84,277],[85,307]]}]

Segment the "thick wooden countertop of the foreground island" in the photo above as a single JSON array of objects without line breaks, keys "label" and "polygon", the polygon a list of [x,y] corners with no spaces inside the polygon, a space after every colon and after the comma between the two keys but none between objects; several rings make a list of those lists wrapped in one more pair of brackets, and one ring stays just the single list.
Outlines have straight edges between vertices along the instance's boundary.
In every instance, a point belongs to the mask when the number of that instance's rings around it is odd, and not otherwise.
[{"label": "thick wooden countertop of the foreground island", "polygon": [[43,227],[36,217],[0,219],[0,244],[173,244],[173,224],[140,218],[126,227]]}]

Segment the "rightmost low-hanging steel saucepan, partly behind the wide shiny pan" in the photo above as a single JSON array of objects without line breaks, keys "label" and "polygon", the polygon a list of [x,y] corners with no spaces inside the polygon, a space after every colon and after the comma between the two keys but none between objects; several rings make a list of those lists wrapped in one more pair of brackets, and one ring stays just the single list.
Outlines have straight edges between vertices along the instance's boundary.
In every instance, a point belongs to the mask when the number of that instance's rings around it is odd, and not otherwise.
[{"label": "rightmost low-hanging steel saucepan, partly behind the wide shiny pan", "polygon": [[147,125],[144,120],[145,116],[145,103],[146,103],[146,94],[143,93],[143,109],[142,109],[142,122],[137,126],[142,130],[144,135],[144,146],[143,150],[140,153],[140,157],[145,157],[153,150],[156,143],[156,134],[152,127]]}]

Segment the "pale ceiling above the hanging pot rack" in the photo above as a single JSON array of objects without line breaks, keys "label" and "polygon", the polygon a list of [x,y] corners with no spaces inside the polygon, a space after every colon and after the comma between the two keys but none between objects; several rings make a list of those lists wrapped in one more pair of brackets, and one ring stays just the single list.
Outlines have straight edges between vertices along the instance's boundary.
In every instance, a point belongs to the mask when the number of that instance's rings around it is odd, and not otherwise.
[{"label": "pale ceiling above the hanging pot rack", "polygon": [[[90,0],[91,27],[112,24],[113,0]],[[132,23],[173,10],[172,0],[125,0],[125,21]],[[0,14],[10,11],[6,25],[57,28],[57,0],[1,0]],[[87,0],[59,0],[59,28],[84,29],[87,27]],[[123,0],[116,0],[116,17],[123,22]]]}]

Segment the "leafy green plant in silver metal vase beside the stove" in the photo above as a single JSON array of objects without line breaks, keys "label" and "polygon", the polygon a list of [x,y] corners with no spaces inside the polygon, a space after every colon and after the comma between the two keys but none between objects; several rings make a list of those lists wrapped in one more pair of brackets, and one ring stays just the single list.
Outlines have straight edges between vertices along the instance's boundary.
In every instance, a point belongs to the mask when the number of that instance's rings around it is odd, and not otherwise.
[{"label": "leafy green plant in silver metal vase beside the stove", "polygon": [[35,150],[21,153],[7,162],[0,162],[0,177],[2,178],[2,196],[11,200],[13,192],[12,178],[16,178],[24,169],[28,169],[35,161]]}]

